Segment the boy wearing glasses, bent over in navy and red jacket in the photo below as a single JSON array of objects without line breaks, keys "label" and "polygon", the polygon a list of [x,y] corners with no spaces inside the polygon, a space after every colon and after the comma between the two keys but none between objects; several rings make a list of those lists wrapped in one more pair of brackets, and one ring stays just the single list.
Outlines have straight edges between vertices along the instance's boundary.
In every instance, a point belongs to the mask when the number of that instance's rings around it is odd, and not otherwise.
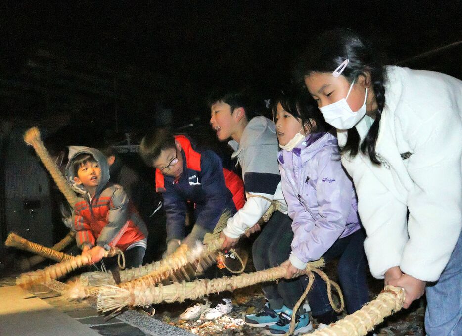
[{"label": "boy wearing glasses, bent over in navy and red jacket", "polygon": [[[233,214],[244,204],[242,180],[223,169],[213,151],[197,152],[184,135],[156,130],[142,139],[139,151],[146,165],[156,168],[156,191],[163,195],[167,216],[166,255],[182,242],[190,247],[202,242],[223,210]],[[194,204],[195,224],[185,236],[187,202]]]}]

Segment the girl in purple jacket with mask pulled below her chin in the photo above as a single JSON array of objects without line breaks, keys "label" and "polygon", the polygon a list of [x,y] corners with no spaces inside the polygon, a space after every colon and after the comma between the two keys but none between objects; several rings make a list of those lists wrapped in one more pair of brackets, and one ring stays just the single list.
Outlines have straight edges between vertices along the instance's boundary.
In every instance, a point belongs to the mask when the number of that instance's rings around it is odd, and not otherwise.
[{"label": "girl in purple jacket with mask pulled below her chin", "polygon": [[[365,234],[357,212],[353,184],[340,162],[337,139],[326,132],[323,117],[313,104],[294,94],[276,100],[273,107],[282,191],[294,238],[286,278],[301,275],[307,262],[335,258],[348,314],[368,301]],[[316,275],[308,294],[312,315],[329,324],[337,318],[326,286]]]}]

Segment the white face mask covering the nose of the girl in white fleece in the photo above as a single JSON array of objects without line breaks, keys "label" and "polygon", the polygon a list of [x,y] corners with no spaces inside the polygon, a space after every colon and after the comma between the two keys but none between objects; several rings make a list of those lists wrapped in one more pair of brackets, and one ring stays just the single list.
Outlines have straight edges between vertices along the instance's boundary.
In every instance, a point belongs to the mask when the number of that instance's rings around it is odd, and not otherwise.
[{"label": "white face mask covering the nose of the girl in white fleece", "polygon": [[353,112],[350,105],[348,105],[346,101],[350,95],[351,89],[353,88],[353,84],[355,84],[355,81],[351,83],[350,89],[348,90],[347,96],[345,98],[319,108],[324,116],[325,121],[337,129],[353,128],[356,124],[359,123],[361,119],[363,119],[364,115],[366,114],[366,98],[368,96],[367,88],[364,95],[363,106],[361,106],[358,111]]}]

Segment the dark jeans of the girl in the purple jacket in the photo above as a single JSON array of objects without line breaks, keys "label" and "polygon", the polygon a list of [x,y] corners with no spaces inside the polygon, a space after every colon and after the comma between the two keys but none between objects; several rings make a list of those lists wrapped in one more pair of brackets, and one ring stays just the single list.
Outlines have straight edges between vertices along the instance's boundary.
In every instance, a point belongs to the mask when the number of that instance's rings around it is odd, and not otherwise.
[{"label": "dark jeans of the girl in the purple jacket", "polygon": [[[363,247],[365,238],[363,230],[358,230],[345,238],[337,239],[323,255],[326,262],[340,258],[337,271],[348,314],[354,313],[369,301]],[[307,297],[314,316],[332,311],[327,297],[327,286],[317,274]]]}]

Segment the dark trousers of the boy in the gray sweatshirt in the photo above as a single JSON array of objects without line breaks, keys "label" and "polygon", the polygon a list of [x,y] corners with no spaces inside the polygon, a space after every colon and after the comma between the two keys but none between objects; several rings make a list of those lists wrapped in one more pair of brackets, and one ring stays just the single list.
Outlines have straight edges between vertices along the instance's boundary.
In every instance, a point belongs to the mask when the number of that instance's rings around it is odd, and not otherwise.
[{"label": "dark trousers of the boy in the gray sweatshirt", "polygon": [[[292,239],[292,219],[275,211],[252,246],[253,263],[257,271],[278,266],[286,261],[291,251]],[[271,309],[280,309],[282,305],[292,309],[303,294],[304,286],[300,278],[281,279],[277,284],[265,283],[262,289]]]}]

